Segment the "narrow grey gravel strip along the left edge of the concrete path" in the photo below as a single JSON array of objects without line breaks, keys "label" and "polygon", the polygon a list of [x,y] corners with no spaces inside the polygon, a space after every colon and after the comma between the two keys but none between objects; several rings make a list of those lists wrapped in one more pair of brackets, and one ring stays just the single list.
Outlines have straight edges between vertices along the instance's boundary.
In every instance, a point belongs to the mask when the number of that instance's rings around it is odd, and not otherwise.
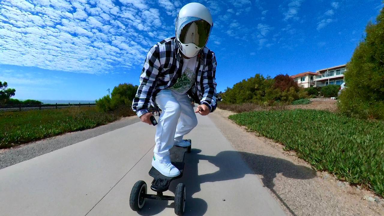
[{"label": "narrow grey gravel strip along the left edge of the concrete path", "polygon": [[14,148],[0,150],[0,169],[35,158],[40,155],[44,155],[60,148],[64,148],[65,146],[69,146],[74,143],[88,140],[89,138],[102,135],[109,131],[134,124],[139,122],[139,120],[140,119],[137,118],[137,116],[124,117],[118,121],[114,121],[97,128],[66,133],[60,136],[54,136],[44,140],[26,143]]}]

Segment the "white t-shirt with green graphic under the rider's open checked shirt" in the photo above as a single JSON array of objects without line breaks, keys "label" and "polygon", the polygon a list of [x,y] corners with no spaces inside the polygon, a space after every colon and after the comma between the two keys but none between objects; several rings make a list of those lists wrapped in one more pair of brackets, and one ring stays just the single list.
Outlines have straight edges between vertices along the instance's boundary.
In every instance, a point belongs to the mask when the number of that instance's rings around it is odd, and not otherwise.
[{"label": "white t-shirt with green graphic under the rider's open checked shirt", "polygon": [[195,66],[197,56],[185,59],[183,58],[182,74],[177,78],[175,85],[170,87],[174,93],[184,95],[195,84]]}]

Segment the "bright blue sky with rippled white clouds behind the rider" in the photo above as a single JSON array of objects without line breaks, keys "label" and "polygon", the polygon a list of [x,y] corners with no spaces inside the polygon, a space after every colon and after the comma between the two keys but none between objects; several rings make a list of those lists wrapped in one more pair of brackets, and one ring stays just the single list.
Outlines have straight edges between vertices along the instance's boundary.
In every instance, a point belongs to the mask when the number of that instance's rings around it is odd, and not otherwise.
[{"label": "bright blue sky with rippled white clouds behind the rider", "polygon": [[0,0],[0,80],[15,98],[94,100],[139,84],[149,48],[174,36],[180,8],[206,5],[217,91],[262,73],[349,61],[381,0]]}]

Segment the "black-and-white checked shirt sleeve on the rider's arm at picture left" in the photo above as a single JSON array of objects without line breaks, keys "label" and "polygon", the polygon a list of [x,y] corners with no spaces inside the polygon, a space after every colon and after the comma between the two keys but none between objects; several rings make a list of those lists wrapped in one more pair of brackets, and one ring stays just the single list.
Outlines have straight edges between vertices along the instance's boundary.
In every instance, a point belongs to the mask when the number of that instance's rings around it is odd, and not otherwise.
[{"label": "black-and-white checked shirt sleeve on the rider's arm at picture left", "polygon": [[135,111],[139,117],[147,113],[149,106],[151,106],[151,97],[156,87],[160,66],[159,52],[157,46],[154,46],[147,54],[140,76],[140,85],[132,103],[132,110]]}]

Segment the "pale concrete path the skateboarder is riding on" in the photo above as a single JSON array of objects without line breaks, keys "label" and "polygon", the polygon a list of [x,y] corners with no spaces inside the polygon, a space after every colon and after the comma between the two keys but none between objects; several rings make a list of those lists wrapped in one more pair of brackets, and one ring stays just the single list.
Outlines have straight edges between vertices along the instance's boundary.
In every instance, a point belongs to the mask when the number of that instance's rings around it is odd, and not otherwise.
[{"label": "pale concrete path the skateboarder is riding on", "polygon": [[[198,120],[185,137],[193,150],[184,176],[164,194],[183,182],[185,215],[285,215],[210,118]],[[147,200],[138,213],[129,208],[133,184],[151,184],[154,133],[154,126],[134,123],[0,169],[1,215],[174,215],[173,201]]]}]

